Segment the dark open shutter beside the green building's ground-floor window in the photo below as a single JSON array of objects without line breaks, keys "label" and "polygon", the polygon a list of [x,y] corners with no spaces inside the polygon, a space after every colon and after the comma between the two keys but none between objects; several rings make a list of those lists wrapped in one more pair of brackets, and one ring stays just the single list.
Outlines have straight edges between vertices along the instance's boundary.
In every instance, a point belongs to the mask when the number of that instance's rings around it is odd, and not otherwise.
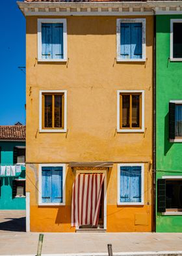
[{"label": "dark open shutter beside the green building's ground-floor window", "polygon": [[157,212],[166,212],[166,180],[157,180]]}]

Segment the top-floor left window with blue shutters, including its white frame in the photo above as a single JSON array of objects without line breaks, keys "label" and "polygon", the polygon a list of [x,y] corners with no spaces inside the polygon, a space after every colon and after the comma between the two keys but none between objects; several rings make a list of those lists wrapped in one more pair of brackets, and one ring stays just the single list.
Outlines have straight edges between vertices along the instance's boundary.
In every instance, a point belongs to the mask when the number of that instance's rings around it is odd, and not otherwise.
[{"label": "top-floor left window with blue shutters, including its white frame", "polygon": [[66,59],[66,19],[38,19],[38,61]]}]

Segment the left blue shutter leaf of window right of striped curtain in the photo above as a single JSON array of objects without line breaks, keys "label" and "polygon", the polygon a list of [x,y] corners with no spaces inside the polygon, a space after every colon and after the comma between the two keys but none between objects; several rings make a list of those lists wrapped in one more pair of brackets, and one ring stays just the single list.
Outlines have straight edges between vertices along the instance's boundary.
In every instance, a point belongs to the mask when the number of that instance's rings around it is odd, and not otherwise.
[{"label": "left blue shutter leaf of window right of striped curtain", "polygon": [[129,182],[131,167],[120,167],[120,202],[129,202]]}]

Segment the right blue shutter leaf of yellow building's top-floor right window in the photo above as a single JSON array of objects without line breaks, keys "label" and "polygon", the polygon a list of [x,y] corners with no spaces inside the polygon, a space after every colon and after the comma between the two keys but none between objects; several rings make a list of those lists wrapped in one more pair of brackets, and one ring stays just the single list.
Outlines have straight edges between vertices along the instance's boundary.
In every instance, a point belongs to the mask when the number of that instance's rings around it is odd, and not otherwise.
[{"label": "right blue shutter leaf of yellow building's top-floor right window", "polygon": [[131,24],[131,59],[142,59],[142,23]]}]

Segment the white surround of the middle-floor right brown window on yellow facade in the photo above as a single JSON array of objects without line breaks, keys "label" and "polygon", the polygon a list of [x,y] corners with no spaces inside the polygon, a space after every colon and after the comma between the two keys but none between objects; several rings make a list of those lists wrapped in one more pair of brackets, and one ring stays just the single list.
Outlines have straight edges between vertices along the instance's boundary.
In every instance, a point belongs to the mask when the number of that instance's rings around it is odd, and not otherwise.
[{"label": "white surround of the middle-floor right brown window on yellow facade", "polygon": [[[142,93],[142,128],[120,129],[120,93]],[[144,133],[144,90],[118,90],[117,91],[117,131],[118,133]]]}]

